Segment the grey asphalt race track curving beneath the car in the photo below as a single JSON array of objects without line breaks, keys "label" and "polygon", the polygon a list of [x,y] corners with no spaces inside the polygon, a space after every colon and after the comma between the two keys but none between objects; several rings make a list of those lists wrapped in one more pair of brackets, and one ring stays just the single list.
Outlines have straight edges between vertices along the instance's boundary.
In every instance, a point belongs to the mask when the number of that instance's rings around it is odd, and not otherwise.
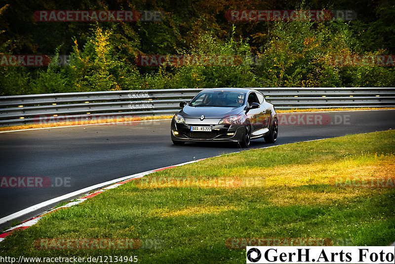
[{"label": "grey asphalt race track curving beneath the car", "polygon": [[[316,119],[309,119],[308,115],[317,114],[323,115],[318,121],[329,120],[330,123],[307,125]],[[290,117],[288,114],[283,120],[280,117],[276,145],[395,129],[395,110],[298,115],[302,116]],[[271,145],[258,139],[251,141],[250,148]],[[237,145],[224,143],[175,146],[170,140],[169,120],[0,133],[0,149],[0,177],[50,178],[48,187],[2,185],[0,218],[107,180],[239,151]],[[26,220],[49,208],[18,220]],[[4,223],[0,227],[10,224]]]}]

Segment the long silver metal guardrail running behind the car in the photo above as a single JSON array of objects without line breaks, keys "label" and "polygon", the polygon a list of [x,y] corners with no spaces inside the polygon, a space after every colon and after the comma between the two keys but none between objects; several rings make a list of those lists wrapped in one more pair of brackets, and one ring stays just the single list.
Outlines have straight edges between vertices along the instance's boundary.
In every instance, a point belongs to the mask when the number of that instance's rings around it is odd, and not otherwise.
[{"label": "long silver metal guardrail running behind the car", "polygon": [[[395,88],[252,88],[276,109],[394,107]],[[122,90],[0,96],[0,126],[172,115],[202,89]],[[51,119],[52,118],[52,119]]]}]

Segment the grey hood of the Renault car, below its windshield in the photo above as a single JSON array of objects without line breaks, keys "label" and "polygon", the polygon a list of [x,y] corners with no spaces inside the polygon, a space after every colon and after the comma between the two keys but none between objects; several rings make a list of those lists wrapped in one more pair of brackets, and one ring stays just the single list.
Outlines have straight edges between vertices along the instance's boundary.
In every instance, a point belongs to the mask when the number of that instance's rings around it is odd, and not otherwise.
[{"label": "grey hood of the Renault car, below its windshield", "polygon": [[211,106],[185,106],[179,114],[185,118],[199,118],[204,115],[205,118],[223,118],[226,116],[237,115],[243,111],[242,107],[211,107]]}]

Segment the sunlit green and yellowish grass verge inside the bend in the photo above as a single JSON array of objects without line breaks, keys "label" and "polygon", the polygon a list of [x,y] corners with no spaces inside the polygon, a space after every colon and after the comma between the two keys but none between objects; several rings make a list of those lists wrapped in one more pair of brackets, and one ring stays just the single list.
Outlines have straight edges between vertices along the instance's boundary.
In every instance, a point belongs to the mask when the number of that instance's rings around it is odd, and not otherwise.
[{"label": "sunlit green and yellowish grass verge inside the bend", "polygon": [[[375,132],[223,155],[152,177],[238,177],[240,187],[106,191],[0,243],[0,256],[138,256],[140,263],[245,263],[228,238],[395,241],[394,188],[336,188],[335,176],[395,175],[395,132]],[[42,250],[40,238],[139,238],[138,250]],[[155,242],[155,247],[149,244]]]}]

